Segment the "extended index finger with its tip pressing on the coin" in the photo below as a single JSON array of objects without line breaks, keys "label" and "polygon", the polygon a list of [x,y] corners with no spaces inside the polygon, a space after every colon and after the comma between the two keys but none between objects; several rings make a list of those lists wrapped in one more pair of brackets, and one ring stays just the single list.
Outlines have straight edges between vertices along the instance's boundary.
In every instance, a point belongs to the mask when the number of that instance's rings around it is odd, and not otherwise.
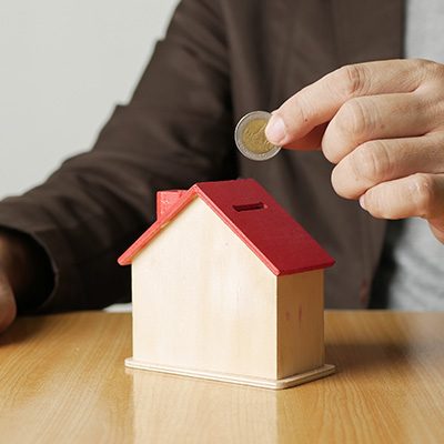
[{"label": "extended index finger with its tip pressing on the coin", "polygon": [[421,83],[421,60],[384,60],[349,64],[305,87],[284,102],[265,129],[271,143],[287,145],[329,122],[350,99],[412,92]]}]

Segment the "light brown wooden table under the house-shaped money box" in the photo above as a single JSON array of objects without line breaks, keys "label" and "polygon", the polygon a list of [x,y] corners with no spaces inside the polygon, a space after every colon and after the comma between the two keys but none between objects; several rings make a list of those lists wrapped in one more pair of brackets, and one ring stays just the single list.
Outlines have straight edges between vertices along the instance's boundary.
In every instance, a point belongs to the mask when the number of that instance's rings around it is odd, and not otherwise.
[{"label": "light brown wooden table under the house-shaped money box", "polygon": [[444,313],[327,312],[337,373],[270,391],[127,370],[129,314],[0,336],[1,443],[443,443]]}]

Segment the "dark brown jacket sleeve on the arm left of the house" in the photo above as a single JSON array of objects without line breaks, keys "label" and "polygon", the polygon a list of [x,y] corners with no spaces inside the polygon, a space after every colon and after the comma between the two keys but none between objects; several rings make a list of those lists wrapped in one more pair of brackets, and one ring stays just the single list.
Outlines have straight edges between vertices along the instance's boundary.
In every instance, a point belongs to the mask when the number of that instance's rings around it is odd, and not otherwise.
[{"label": "dark brown jacket sleeve on the arm left of the house", "polygon": [[0,202],[0,225],[31,236],[50,260],[54,287],[38,312],[128,300],[130,271],[117,258],[153,222],[155,192],[236,176],[218,4],[182,1],[131,102],[93,149]]}]

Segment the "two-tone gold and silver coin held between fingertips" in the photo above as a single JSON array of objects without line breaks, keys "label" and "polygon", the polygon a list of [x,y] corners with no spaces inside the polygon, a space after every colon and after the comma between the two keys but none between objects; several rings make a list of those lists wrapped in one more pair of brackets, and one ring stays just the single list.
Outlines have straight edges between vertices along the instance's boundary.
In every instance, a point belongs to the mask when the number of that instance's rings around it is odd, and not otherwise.
[{"label": "two-tone gold and silver coin held between fingertips", "polygon": [[270,118],[270,112],[253,111],[239,121],[234,131],[234,141],[245,158],[269,160],[281,151],[281,147],[273,145],[265,137],[265,127]]}]

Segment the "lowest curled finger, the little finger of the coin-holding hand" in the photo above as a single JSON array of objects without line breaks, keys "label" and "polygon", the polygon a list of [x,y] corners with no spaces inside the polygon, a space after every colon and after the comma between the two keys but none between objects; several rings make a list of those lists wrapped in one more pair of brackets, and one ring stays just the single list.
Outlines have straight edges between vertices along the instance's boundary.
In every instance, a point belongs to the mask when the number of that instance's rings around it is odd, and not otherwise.
[{"label": "lowest curled finger, the little finger of the coin-holding hand", "polygon": [[443,220],[443,202],[444,174],[424,173],[380,183],[360,199],[361,206],[375,218],[420,216],[432,223]]}]

